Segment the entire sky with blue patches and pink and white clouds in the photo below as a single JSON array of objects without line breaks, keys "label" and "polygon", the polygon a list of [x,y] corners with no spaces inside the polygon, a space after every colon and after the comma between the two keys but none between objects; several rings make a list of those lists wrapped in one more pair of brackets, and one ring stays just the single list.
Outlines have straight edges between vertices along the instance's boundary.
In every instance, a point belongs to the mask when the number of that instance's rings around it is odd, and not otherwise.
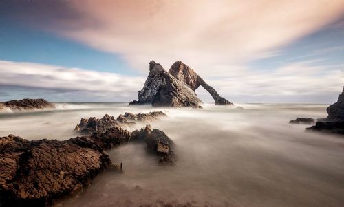
[{"label": "entire sky with blue patches and pink and white clouds", "polygon": [[153,59],[231,102],[330,104],[343,57],[344,0],[0,0],[0,101],[129,102]]}]

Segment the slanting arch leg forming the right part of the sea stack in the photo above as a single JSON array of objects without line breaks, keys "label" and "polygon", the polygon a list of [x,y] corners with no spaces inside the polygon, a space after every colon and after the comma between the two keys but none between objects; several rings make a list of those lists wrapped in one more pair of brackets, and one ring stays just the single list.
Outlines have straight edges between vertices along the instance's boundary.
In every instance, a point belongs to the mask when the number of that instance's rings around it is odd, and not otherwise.
[{"label": "slanting arch leg forming the right part of the sea stack", "polygon": [[226,100],[217,94],[217,91],[210,85],[208,85],[196,72],[191,69],[188,65],[182,63],[182,61],[176,61],[173,63],[171,68],[169,69],[169,73],[177,78],[178,80],[184,81],[193,91],[198,89],[198,87],[202,86],[206,91],[211,94],[213,99],[215,100],[215,105],[232,105],[233,103]]}]

